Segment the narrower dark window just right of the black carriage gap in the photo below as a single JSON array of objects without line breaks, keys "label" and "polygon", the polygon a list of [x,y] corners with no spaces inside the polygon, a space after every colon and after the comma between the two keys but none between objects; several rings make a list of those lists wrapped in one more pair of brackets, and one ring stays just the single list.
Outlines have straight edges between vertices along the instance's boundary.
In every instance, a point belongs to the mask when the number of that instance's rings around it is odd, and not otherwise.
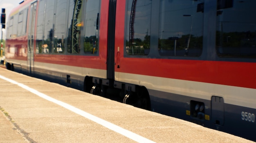
[{"label": "narrower dark window just right of the black carriage gap", "polygon": [[148,55],[152,0],[128,0],[126,53]]}]

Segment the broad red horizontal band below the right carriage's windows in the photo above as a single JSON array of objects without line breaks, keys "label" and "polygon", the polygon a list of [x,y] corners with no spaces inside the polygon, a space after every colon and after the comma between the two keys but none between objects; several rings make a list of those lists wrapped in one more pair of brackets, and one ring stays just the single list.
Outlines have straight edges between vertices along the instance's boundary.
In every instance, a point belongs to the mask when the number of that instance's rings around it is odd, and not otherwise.
[{"label": "broad red horizontal band below the right carriage's windows", "polygon": [[256,89],[256,63],[123,58],[117,72]]}]

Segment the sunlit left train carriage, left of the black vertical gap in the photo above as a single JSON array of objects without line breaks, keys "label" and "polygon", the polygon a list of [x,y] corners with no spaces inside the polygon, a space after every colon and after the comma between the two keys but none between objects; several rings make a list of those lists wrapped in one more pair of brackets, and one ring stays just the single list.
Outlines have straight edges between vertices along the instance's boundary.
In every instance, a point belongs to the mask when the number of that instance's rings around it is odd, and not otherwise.
[{"label": "sunlit left train carriage, left of the black vertical gap", "polygon": [[[108,21],[99,25],[99,11],[102,21],[108,20],[108,6],[100,5],[100,0],[88,2],[88,9],[83,8],[83,0],[23,2],[9,17],[7,68],[81,90],[86,76],[106,78]],[[86,10],[92,12],[85,20]]]}]

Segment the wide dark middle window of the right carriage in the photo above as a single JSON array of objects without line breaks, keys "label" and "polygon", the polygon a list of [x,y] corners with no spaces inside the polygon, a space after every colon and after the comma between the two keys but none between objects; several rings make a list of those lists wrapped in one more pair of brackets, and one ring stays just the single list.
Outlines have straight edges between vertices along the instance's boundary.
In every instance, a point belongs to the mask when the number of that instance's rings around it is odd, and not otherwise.
[{"label": "wide dark middle window of the right carriage", "polygon": [[161,56],[200,56],[204,0],[160,0],[158,51]]}]

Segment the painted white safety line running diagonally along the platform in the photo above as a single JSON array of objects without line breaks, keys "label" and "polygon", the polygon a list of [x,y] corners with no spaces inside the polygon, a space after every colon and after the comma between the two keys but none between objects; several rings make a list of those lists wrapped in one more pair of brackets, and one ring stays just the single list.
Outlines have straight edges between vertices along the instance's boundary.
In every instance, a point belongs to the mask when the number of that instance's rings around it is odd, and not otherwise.
[{"label": "painted white safety line running diagonally along the platform", "polygon": [[96,116],[91,115],[91,114],[89,114],[89,113],[87,113],[85,111],[82,111],[79,108],[76,108],[76,107],[71,106],[71,105],[69,105],[69,104],[67,104],[65,102],[62,102],[62,101],[56,100],[54,98],[51,98],[51,97],[49,97],[49,96],[47,96],[47,95],[45,95],[43,93],[40,93],[39,91],[37,91],[35,89],[32,89],[32,88],[28,87],[27,85],[23,85],[22,83],[16,82],[14,80],[11,80],[11,79],[6,78],[6,77],[1,76],[1,75],[0,75],[0,78],[2,78],[3,80],[7,80],[8,82],[11,82],[11,83],[13,83],[15,85],[18,85],[18,86],[22,87],[23,89],[26,89],[26,90],[30,91],[31,93],[34,93],[34,94],[38,95],[41,98],[44,98],[45,100],[48,100],[48,101],[53,102],[55,104],[58,104],[58,105],[60,105],[60,106],[62,106],[64,108],[66,108],[66,109],[68,109],[68,110],[78,114],[78,115],[81,115],[81,116],[83,116],[83,117],[85,117],[87,119],[90,119],[90,120],[96,122],[97,124],[100,124],[100,125],[108,128],[110,130],[113,130],[113,131],[115,131],[115,132],[117,132],[119,134],[122,134],[125,137],[128,137],[128,138],[130,138],[130,139],[132,139],[134,141],[137,141],[139,143],[155,143],[154,141],[151,141],[149,139],[141,137],[140,135],[135,134],[135,133],[133,133],[133,132],[131,132],[129,130],[121,128],[121,127],[119,127],[119,126],[117,126],[115,124],[112,124],[112,123],[110,123],[108,121],[105,121],[105,120],[103,120],[103,119],[101,119],[99,117],[96,117]]}]

